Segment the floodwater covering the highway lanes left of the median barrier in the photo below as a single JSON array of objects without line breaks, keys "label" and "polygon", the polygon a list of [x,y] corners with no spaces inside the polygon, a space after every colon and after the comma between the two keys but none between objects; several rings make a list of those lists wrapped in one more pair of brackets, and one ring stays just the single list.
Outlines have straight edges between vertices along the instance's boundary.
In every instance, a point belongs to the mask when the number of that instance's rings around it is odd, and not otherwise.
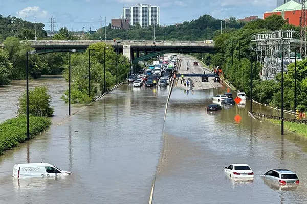
[{"label": "floodwater covering the highway lanes left of the median barrier", "polygon": [[[124,85],[7,151],[0,156],[0,203],[147,202],[168,91]],[[18,184],[12,179],[13,165],[27,162],[54,164],[72,175],[20,179]]]}]

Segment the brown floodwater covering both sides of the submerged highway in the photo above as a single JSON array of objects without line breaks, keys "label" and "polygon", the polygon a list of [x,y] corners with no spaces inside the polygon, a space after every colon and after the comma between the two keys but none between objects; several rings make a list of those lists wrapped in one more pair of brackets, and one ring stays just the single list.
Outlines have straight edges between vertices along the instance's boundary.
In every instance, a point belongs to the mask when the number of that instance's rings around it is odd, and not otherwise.
[{"label": "brown floodwater covering both sides of the submerged highway", "polygon": [[[169,87],[123,85],[69,118],[67,105],[53,97],[63,119],[0,156],[0,203],[148,203],[156,172],[153,203],[305,203],[307,139],[281,137],[279,127],[252,119],[249,101],[207,112],[212,96],[226,90],[174,88],[164,126]],[[256,104],[254,111],[278,114]],[[32,162],[72,175],[12,178],[14,164]],[[229,179],[224,167],[231,163],[249,164],[254,180]],[[300,184],[265,182],[260,175],[271,168],[296,172]]]}]

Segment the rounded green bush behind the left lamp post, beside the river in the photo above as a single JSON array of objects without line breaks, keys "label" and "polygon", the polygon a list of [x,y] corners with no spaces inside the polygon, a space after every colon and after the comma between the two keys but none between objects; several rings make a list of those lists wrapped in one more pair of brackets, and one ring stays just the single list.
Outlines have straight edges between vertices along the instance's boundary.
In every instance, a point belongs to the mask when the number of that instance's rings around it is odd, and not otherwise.
[{"label": "rounded green bush behind the left lamp post, beside the river", "polygon": [[[29,114],[39,117],[50,117],[53,108],[50,106],[52,97],[48,94],[46,86],[35,87],[29,91]],[[26,114],[26,92],[19,97],[18,115]]]}]

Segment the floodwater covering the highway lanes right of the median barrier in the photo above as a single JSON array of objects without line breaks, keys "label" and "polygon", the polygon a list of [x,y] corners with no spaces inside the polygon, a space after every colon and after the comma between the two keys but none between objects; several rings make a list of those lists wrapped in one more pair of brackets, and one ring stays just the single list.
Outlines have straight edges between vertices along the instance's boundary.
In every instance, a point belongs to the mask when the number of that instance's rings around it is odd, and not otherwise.
[{"label": "floodwater covering the highway lanes right of the median barrier", "polygon": [[[222,106],[208,112],[209,90],[197,91],[193,100],[174,89],[165,121],[163,160],[159,164],[154,203],[304,203],[307,185],[283,191],[261,179],[271,168],[289,168],[307,180],[307,141],[293,134],[280,135],[280,128],[248,115],[249,101]],[[214,89],[215,94],[224,93]],[[245,107],[243,107],[245,106]],[[279,115],[254,104],[255,112]],[[288,117],[291,117],[287,115]],[[229,179],[223,171],[230,163],[251,166],[253,181]]]}]

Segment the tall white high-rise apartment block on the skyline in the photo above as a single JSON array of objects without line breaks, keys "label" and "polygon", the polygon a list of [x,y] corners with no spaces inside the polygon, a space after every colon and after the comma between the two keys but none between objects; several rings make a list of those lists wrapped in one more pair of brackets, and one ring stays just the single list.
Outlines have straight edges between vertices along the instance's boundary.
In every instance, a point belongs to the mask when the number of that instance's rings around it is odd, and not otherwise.
[{"label": "tall white high-rise apartment block on the skyline", "polygon": [[160,7],[151,6],[149,4],[138,4],[123,8],[123,18],[127,19],[130,25],[134,26],[137,23],[142,28],[148,25],[160,24]]}]

